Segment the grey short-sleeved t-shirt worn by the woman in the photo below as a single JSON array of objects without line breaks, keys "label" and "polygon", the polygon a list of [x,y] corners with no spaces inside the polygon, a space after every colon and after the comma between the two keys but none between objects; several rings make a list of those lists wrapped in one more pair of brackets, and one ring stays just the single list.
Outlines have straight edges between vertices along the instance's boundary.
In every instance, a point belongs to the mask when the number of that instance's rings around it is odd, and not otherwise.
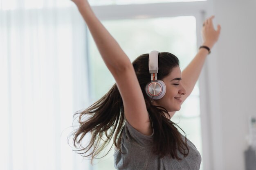
[{"label": "grey short-sleeved t-shirt worn by the woman", "polygon": [[[121,142],[121,154],[115,150],[114,164],[118,170],[199,170],[201,155],[195,145],[187,139],[189,155],[185,158],[178,152],[181,161],[170,156],[157,157],[152,152],[153,135],[143,135],[134,129],[127,121]],[[181,134],[182,135],[182,134]],[[182,135],[185,140],[184,135]]]}]

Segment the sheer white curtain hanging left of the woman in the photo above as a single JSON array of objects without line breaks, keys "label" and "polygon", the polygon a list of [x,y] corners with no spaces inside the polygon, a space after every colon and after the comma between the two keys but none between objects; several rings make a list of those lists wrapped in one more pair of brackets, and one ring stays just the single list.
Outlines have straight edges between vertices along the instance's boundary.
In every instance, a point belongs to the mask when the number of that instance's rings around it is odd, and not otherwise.
[{"label": "sheer white curtain hanging left of the woman", "polygon": [[69,0],[0,0],[1,170],[89,169],[67,144],[89,102],[85,35]]}]

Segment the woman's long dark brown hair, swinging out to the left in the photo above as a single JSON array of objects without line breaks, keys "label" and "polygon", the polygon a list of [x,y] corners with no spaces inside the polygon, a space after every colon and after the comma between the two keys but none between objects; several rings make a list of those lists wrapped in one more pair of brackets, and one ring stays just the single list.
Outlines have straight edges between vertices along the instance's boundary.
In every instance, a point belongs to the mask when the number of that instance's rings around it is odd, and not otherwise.
[{"label": "woman's long dark brown hair, swinging out to the left", "polygon": [[[187,138],[185,137],[185,141],[182,139],[182,135],[176,128],[176,126],[179,126],[172,122],[170,118],[165,117],[164,113],[168,115],[168,111],[164,107],[152,105],[145,92],[146,84],[150,82],[148,56],[149,54],[140,55],[132,62],[132,65],[144,95],[150,120],[153,123],[153,152],[159,157],[169,155],[173,159],[181,160],[182,158],[178,157],[177,150],[184,157],[188,155]],[[163,79],[171,73],[173,68],[179,66],[179,60],[169,52],[160,52],[158,65],[158,79]],[[74,151],[83,151],[79,154],[85,154],[84,157],[92,157],[93,159],[99,155],[113,138],[111,146],[115,145],[121,152],[121,139],[126,120],[123,101],[116,84],[101,99],[84,111],[76,112],[74,116],[77,114],[79,114],[78,122],[80,126],[73,133],[73,144],[79,150]],[[90,142],[82,146],[82,139],[88,133],[91,133]]]}]

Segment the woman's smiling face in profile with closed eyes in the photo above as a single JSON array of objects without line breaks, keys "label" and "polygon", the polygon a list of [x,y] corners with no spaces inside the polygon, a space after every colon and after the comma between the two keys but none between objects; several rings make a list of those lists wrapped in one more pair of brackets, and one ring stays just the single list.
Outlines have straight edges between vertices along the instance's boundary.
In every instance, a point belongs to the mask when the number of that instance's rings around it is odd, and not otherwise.
[{"label": "woman's smiling face in profile with closed eyes", "polygon": [[186,90],[182,85],[182,74],[180,67],[173,68],[171,74],[162,79],[166,85],[166,93],[159,100],[154,100],[153,105],[162,106],[168,112],[179,111],[182,103],[182,95],[186,94]]}]

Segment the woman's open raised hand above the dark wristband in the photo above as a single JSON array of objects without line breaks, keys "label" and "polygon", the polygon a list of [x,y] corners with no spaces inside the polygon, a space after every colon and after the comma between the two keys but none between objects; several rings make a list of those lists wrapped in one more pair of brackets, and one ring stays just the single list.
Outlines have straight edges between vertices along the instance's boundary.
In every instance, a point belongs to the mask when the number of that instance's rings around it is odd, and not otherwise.
[{"label": "woman's open raised hand above the dark wristband", "polygon": [[203,45],[212,48],[213,45],[218,41],[220,35],[220,24],[218,24],[217,30],[213,27],[213,20],[214,15],[204,21],[203,28],[202,28],[202,40]]}]

